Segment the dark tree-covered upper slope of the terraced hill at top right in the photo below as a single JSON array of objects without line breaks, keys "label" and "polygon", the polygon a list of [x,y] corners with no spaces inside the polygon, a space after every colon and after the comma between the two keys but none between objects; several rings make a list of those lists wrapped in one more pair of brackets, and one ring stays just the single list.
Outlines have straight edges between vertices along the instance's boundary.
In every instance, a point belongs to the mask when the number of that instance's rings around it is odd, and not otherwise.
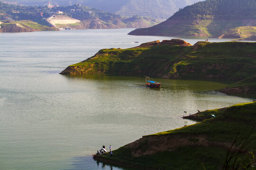
[{"label": "dark tree-covered upper slope of the terraced hill at top right", "polygon": [[256,19],[255,0],[205,0],[186,6],[172,17],[208,19]]}]

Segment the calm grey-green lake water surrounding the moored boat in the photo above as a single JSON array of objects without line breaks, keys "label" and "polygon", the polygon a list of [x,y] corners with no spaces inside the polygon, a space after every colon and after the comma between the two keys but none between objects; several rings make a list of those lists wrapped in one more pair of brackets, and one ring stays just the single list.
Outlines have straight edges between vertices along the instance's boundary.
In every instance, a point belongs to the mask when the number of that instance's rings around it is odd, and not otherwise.
[{"label": "calm grey-green lake water surrounding the moored boat", "polygon": [[124,170],[88,155],[103,144],[117,149],[143,135],[193,124],[181,119],[183,111],[252,101],[213,91],[223,83],[157,79],[162,88],[149,89],[143,77],[58,74],[102,48],[172,39],[127,35],[131,30],[0,34],[1,170]]}]

